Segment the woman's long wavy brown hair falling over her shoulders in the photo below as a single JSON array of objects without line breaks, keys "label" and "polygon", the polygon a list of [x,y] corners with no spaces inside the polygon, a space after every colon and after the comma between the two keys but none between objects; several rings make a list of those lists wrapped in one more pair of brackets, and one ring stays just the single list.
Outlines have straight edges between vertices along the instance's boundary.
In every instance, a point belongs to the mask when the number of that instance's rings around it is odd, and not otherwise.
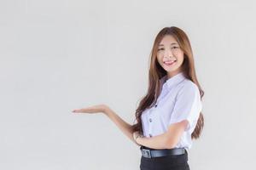
[{"label": "woman's long wavy brown hair falling over her shoulders", "polygon": [[[182,66],[183,72],[185,73],[185,77],[187,77],[192,82],[195,82],[195,84],[200,90],[201,99],[204,95],[204,91],[201,89],[201,86],[197,81],[197,78],[195,75],[194,57],[193,57],[192,48],[189,42],[189,37],[186,35],[186,33],[183,30],[181,30],[180,28],[177,28],[176,26],[163,28],[154,39],[154,45],[150,53],[150,66],[149,66],[149,72],[148,72],[148,92],[145,96],[143,96],[143,99],[141,99],[137,107],[137,110],[135,113],[137,123],[132,125],[133,132],[139,131],[140,133],[143,133],[142,119],[141,119],[142,113],[145,109],[151,108],[153,105],[155,105],[157,98],[160,95],[160,78],[166,76],[166,71],[158,63],[156,54],[157,54],[157,49],[160,41],[166,35],[171,35],[172,37],[174,37],[178,42],[179,47],[183,50],[184,60],[181,66]],[[198,139],[201,135],[201,131],[203,127],[204,127],[204,117],[202,113],[200,113],[195,130],[191,134],[191,138]]]}]

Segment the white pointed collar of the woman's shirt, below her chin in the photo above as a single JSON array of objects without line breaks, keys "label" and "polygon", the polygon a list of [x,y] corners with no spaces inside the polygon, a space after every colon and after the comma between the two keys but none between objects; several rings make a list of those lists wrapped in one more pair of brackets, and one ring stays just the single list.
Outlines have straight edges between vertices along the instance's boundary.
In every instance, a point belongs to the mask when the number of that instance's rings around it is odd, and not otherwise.
[{"label": "white pointed collar of the woman's shirt, below her chin", "polygon": [[172,88],[172,86],[176,85],[179,82],[182,82],[185,79],[184,72],[179,72],[177,75],[167,79],[167,75],[160,79],[160,84],[163,86],[167,85],[167,88]]}]

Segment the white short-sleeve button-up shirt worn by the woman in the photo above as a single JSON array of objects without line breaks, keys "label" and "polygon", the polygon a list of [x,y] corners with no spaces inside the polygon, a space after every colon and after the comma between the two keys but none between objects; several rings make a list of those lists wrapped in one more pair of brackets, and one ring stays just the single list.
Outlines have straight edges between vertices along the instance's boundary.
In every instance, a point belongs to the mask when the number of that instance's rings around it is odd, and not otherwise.
[{"label": "white short-sleeve button-up shirt worn by the woman", "polygon": [[148,138],[160,135],[166,133],[172,123],[188,120],[189,124],[175,148],[190,149],[191,133],[202,109],[199,88],[183,72],[169,79],[167,76],[162,77],[160,86],[162,88],[156,105],[143,111],[143,135]]}]

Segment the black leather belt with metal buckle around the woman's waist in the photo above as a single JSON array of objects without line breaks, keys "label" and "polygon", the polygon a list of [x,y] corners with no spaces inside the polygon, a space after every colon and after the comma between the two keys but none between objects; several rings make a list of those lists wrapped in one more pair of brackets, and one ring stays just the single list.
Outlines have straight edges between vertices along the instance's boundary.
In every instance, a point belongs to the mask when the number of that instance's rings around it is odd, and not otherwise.
[{"label": "black leather belt with metal buckle around the woman's waist", "polygon": [[161,157],[161,156],[177,156],[182,155],[186,152],[184,148],[173,148],[173,149],[164,149],[164,150],[154,150],[145,146],[141,146],[140,150],[144,157]]}]

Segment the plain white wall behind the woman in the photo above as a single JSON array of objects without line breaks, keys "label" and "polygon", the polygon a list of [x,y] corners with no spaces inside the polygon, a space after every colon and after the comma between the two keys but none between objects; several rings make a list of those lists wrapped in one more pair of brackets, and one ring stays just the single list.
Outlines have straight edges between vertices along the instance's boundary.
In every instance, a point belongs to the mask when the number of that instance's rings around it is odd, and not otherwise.
[{"label": "plain white wall behind the woman", "polygon": [[0,169],[139,169],[140,151],[107,116],[132,123],[154,37],[187,32],[205,90],[197,170],[252,169],[256,138],[253,1],[0,2]]}]

